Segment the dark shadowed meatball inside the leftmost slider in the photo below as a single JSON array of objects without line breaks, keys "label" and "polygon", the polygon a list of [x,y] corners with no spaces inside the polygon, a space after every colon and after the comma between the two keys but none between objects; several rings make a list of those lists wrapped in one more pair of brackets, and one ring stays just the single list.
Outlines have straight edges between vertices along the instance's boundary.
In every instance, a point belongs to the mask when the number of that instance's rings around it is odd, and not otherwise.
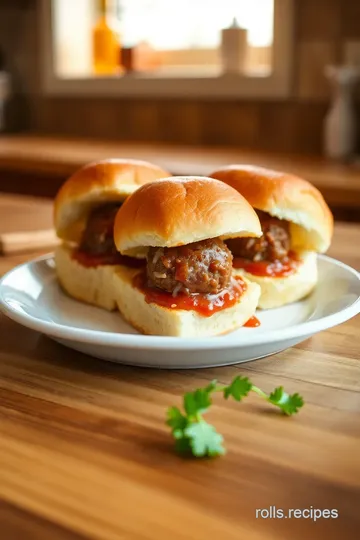
[{"label": "dark shadowed meatball inside the leftmost slider", "polygon": [[120,204],[109,203],[92,210],[79,250],[90,255],[115,255],[114,221]]}]

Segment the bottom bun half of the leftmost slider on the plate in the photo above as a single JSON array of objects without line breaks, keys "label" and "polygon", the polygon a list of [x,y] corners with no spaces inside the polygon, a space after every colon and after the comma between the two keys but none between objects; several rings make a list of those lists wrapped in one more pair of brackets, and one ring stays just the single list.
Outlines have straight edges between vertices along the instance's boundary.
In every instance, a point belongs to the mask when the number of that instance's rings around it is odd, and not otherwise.
[{"label": "bottom bun half of the leftmost slider on the plate", "polygon": [[118,266],[87,268],[72,257],[73,250],[60,245],[55,250],[56,273],[63,289],[76,300],[109,311],[116,309],[114,273]]}]

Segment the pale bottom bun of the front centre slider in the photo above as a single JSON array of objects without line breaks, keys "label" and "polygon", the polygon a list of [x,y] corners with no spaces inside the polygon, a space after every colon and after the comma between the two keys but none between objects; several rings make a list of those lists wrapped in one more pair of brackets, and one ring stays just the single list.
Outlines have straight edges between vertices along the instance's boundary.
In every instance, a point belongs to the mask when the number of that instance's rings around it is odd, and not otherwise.
[{"label": "pale bottom bun of the front centre slider", "polygon": [[138,270],[121,267],[114,279],[117,305],[123,317],[143,334],[177,337],[216,336],[245,324],[255,313],[260,287],[248,283],[246,292],[232,307],[203,317],[196,311],[175,310],[148,304],[144,293],[132,285]]}]

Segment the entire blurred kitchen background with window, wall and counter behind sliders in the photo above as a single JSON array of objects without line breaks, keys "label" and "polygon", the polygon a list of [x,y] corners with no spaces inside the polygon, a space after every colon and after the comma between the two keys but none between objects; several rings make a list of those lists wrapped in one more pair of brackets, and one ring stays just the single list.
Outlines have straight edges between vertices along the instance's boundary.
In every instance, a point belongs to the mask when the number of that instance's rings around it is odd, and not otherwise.
[{"label": "entire blurred kitchen background with window, wall and counter behind sliders", "polygon": [[241,160],[360,220],[359,20],[354,0],[0,0],[0,190],[52,197],[114,154]]}]

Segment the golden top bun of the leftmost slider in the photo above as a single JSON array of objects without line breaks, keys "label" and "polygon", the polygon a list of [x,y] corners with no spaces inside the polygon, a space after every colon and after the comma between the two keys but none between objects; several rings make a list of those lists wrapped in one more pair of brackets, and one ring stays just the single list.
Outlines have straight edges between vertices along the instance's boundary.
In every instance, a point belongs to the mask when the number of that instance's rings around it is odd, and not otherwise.
[{"label": "golden top bun of the leftmost slider", "polygon": [[135,159],[106,159],[82,167],[63,184],[55,198],[58,237],[79,242],[95,206],[123,202],[139,186],[168,176],[160,167]]}]

